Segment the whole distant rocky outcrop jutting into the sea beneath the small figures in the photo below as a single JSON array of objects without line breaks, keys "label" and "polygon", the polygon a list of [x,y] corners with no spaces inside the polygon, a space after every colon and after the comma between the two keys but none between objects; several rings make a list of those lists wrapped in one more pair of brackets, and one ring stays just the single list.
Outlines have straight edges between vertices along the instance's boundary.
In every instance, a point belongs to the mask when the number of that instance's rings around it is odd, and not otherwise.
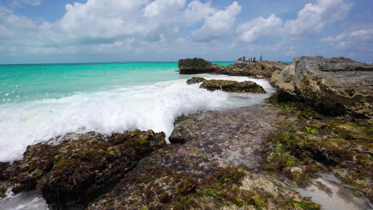
[{"label": "whole distant rocky outcrop jutting into the sea beneath the small figures", "polygon": [[236,61],[232,65],[218,65],[202,58],[180,59],[178,67],[180,74],[226,74],[231,76],[261,76],[270,78],[276,70],[283,70],[289,64],[271,61],[245,62]]}]

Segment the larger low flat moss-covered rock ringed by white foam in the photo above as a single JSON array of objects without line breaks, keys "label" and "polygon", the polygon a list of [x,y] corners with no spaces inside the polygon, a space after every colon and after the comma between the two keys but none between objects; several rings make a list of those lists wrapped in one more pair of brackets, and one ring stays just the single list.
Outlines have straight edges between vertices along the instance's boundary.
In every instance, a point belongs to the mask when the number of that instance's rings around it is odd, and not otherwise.
[{"label": "larger low flat moss-covered rock ringed by white foam", "polygon": [[253,81],[206,80],[201,84],[200,88],[226,92],[266,93],[262,86]]}]

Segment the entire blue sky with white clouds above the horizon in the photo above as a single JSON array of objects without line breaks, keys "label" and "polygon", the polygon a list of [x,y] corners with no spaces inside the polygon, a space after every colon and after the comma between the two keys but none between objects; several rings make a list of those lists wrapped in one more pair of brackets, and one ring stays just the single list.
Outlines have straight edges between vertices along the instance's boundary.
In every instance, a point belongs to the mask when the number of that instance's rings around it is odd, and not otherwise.
[{"label": "entire blue sky with white clouds above the horizon", "polygon": [[0,0],[0,64],[373,62],[373,0]]}]

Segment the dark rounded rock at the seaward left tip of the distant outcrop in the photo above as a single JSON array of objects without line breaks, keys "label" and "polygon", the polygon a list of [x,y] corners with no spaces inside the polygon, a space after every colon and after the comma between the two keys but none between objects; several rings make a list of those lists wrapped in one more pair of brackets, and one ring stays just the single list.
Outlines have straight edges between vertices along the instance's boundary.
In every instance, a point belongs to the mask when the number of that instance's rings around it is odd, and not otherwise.
[{"label": "dark rounded rock at the seaward left tip of the distant outcrop", "polygon": [[186,58],[180,59],[178,62],[178,68],[180,74],[201,74],[206,72],[214,72],[219,70],[219,65],[214,65],[210,61],[206,61],[202,58]]}]

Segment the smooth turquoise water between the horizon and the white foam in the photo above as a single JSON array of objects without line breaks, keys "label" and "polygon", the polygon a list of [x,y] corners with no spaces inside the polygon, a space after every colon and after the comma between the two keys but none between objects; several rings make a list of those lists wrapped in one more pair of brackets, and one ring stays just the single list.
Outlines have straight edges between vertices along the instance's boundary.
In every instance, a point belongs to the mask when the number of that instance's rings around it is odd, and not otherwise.
[{"label": "smooth turquoise water between the horizon and the white foam", "polygon": [[78,92],[183,78],[176,70],[177,62],[0,65],[0,103],[58,99]]}]

